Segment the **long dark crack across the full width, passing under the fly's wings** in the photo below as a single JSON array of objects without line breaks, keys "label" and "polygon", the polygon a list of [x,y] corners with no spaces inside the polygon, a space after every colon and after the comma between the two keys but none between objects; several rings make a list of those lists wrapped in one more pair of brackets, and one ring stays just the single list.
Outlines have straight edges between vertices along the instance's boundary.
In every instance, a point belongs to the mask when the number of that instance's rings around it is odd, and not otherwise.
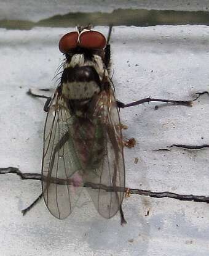
[{"label": "long dark crack across the full width, passing under the fly's wings", "polygon": [[[39,173],[22,173],[18,168],[15,167],[7,167],[7,168],[0,168],[0,174],[8,174],[8,173],[15,173],[22,180],[41,180],[41,174]],[[58,183],[58,184],[71,184],[71,179],[63,180],[63,179],[52,179],[52,183]],[[194,201],[194,202],[205,202],[209,203],[209,197],[207,196],[195,196],[195,195],[185,195],[185,194],[176,194],[168,191],[164,192],[152,192],[149,190],[144,189],[135,189],[135,188],[111,188],[108,186],[104,186],[103,184],[94,184],[94,183],[85,183],[85,188],[92,188],[92,189],[104,189],[105,191],[118,191],[118,192],[128,192],[128,194],[138,194],[141,196],[149,196],[149,197],[155,197],[155,198],[162,198],[162,197],[170,197],[177,200],[184,200],[184,201]]]}]

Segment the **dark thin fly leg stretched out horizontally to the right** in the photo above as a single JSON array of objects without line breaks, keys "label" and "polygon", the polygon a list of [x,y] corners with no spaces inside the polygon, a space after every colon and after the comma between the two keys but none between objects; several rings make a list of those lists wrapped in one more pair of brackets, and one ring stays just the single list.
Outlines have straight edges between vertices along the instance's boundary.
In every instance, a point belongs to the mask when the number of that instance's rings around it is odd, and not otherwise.
[{"label": "dark thin fly leg stretched out horizontally to the right", "polygon": [[153,99],[151,97],[145,98],[145,99],[140,99],[139,101],[133,101],[130,102],[128,104],[124,104],[123,102],[120,101],[116,101],[117,102],[117,107],[119,107],[119,109],[124,109],[125,107],[132,107],[134,105],[140,105],[146,102],[151,102],[151,101],[157,101],[157,102],[167,102],[167,103],[173,103],[176,105],[186,105],[188,107],[192,106],[192,101],[173,101],[170,99]]}]

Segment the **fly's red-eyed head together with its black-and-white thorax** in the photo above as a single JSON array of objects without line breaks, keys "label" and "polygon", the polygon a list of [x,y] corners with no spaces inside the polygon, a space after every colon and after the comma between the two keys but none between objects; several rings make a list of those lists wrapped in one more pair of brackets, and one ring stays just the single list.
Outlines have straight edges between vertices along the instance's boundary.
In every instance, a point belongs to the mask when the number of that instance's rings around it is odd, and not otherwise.
[{"label": "fly's red-eyed head together with its black-and-white thorax", "polygon": [[91,99],[108,81],[110,46],[105,36],[90,27],[78,27],[60,39],[66,56],[61,75],[61,93],[71,100]]}]

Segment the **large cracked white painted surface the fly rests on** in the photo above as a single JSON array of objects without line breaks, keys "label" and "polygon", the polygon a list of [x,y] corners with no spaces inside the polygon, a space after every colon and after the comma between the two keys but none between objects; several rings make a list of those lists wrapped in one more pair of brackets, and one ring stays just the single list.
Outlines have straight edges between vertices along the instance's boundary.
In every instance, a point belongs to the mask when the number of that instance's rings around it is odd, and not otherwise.
[{"label": "large cracked white painted surface the fly rests on", "polygon": [[[97,28],[96,28],[97,29]],[[73,28],[72,28],[73,30]],[[107,35],[108,28],[98,28]],[[41,171],[44,100],[26,95],[31,87],[55,88],[62,56],[57,44],[66,28],[0,30],[0,162],[24,172]],[[208,90],[207,26],[114,27],[112,67],[116,96],[123,102],[143,97],[191,99]],[[21,88],[20,88],[21,86]],[[208,97],[193,107],[144,104],[121,110],[127,186],[184,194],[209,194],[208,150],[152,149],[173,143],[206,144]],[[139,162],[134,163],[134,158]],[[209,207],[173,199],[131,196],[124,200],[128,224],[119,215],[105,220],[89,199],[66,220],[53,218],[41,202],[25,217],[20,210],[41,192],[38,181],[0,176],[0,255],[199,255],[208,256]],[[146,212],[149,216],[146,217]]]}]

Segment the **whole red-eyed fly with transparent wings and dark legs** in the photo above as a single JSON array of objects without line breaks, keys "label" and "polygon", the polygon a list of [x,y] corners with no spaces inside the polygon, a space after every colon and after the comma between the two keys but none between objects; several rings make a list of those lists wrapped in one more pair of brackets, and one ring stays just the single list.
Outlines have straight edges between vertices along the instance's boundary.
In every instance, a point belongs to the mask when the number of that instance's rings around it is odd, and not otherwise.
[{"label": "whole red-eyed fly with transparent wings and dark legs", "polygon": [[59,49],[66,59],[60,84],[44,106],[42,155],[42,195],[49,212],[59,219],[73,211],[85,187],[102,217],[111,218],[120,211],[125,223],[119,108],[149,101],[191,105],[191,101],[151,98],[130,104],[117,101],[109,77],[111,30],[106,39],[90,26],[78,27],[60,39]]}]

